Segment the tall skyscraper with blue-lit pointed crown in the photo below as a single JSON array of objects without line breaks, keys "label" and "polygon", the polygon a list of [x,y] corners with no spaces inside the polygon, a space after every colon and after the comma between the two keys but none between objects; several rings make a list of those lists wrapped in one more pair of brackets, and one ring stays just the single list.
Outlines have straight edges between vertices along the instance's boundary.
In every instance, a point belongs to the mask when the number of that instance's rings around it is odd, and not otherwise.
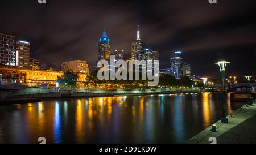
[{"label": "tall skyscraper with blue-lit pointed crown", "polygon": [[98,61],[108,59],[110,59],[110,40],[104,29],[102,37],[98,41]]}]

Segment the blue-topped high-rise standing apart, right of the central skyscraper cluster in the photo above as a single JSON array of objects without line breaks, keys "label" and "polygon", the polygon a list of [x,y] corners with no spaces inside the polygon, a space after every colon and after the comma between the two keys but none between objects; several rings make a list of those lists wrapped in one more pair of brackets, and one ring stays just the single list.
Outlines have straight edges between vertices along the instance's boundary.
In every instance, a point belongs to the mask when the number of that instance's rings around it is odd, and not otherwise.
[{"label": "blue-topped high-rise standing apart, right of the central skyscraper cluster", "polygon": [[180,79],[183,75],[183,58],[181,51],[176,51],[171,55],[171,70],[174,72],[175,78]]}]

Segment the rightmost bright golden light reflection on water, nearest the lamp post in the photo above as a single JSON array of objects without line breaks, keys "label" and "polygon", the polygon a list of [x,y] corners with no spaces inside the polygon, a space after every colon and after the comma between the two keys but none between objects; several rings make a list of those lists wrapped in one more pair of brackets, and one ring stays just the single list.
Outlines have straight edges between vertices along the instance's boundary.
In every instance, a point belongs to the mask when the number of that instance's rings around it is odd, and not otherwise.
[{"label": "rightmost bright golden light reflection on water, nearest the lamp post", "polygon": [[205,124],[210,123],[209,93],[203,93],[203,119]]}]

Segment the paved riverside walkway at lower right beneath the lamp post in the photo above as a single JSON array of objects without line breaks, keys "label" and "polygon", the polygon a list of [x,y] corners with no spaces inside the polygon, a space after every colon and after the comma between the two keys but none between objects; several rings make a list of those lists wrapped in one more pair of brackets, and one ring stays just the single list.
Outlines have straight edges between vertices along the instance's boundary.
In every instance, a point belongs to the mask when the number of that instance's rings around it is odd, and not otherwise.
[{"label": "paved riverside walkway at lower right beneath the lamp post", "polygon": [[228,115],[229,123],[216,122],[217,132],[206,128],[185,144],[210,144],[210,137],[216,138],[217,144],[256,144],[256,101],[252,106],[243,106],[232,115]]}]

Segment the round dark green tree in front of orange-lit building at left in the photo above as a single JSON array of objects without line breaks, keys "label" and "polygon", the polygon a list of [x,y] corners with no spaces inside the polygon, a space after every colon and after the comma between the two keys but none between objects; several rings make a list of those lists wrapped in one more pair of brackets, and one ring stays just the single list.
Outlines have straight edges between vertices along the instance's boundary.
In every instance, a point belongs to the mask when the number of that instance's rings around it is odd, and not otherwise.
[{"label": "round dark green tree in front of orange-lit building at left", "polygon": [[76,87],[77,78],[77,73],[68,70],[58,78],[57,82],[61,84],[63,88],[74,88]]}]

